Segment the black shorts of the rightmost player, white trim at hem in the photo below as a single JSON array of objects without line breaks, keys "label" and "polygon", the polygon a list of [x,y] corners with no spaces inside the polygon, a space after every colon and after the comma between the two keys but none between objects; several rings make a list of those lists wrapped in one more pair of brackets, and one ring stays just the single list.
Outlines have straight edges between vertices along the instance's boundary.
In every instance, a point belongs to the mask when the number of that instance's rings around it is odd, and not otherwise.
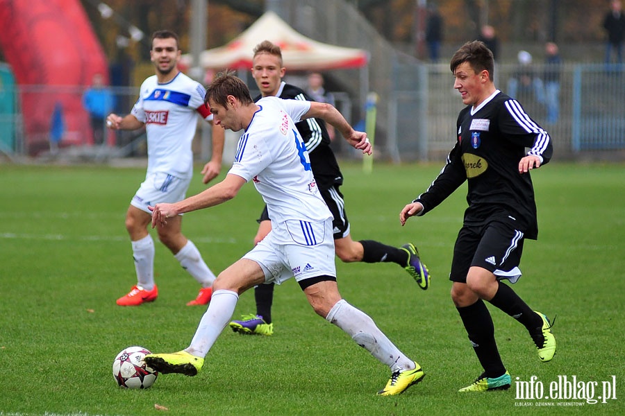
[{"label": "black shorts of the rightmost player, white trim at hem", "polygon": [[466,283],[469,268],[478,266],[492,272],[498,280],[516,283],[521,277],[523,242],[523,233],[503,220],[480,226],[463,225],[453,248],[449,280]]}]

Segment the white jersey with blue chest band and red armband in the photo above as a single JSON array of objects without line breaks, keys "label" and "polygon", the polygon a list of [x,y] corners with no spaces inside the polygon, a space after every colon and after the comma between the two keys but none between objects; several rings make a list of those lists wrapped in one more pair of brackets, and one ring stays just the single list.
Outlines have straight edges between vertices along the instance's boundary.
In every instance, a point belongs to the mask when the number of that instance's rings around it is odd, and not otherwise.
[{"label": "white jersey with blue chest band and red armband", "polygon": [[205,94],[204,87],[184,73],[178,73],[165,84],[159,84],[156,75],[144,80],[131,114],[145,123],[148,174],[192,176],[191,142],[197,128],[197,114],[206,120],[213,119],[204,105]]}]

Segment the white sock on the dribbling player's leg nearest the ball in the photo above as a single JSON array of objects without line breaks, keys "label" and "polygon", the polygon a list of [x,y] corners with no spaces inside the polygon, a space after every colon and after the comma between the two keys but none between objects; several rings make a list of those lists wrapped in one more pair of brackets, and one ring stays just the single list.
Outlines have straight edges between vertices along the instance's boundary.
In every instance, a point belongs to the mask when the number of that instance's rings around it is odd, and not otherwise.
[{"label": "white sock on the dribbling player's leg nearest the ball", "polygon": [[221,289],[213,292],[213,297],[200,320],[191,345],[185,351],[194,356],[205,357],[219,334],[230,322],[238,300],[239,295],[233,291]]}]

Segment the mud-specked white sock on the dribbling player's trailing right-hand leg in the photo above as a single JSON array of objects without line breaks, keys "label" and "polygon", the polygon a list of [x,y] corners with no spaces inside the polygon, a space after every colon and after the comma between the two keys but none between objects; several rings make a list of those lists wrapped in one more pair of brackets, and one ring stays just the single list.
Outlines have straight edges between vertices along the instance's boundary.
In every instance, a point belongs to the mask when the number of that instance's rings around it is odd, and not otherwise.
[{"label": "mud-specked white sock on the dribbling player's trailing right-hand leg", "polygon": [[346,300],[336,302],[326,320],[347,332],[351,339],[367,349],[378,361],[388,365],[392,372],[415,369],[415,362],[395,347],[369,315],[354,308]]}]

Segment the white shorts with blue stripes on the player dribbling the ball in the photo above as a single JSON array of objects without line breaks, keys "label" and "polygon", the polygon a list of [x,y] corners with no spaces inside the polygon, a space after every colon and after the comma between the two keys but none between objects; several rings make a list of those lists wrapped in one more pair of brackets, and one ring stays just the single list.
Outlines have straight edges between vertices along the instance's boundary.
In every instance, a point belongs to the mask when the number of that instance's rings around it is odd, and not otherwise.
[{"label": "white shorts with blue stripes on the player dribbling the ball", "polygon": [[272,223],[272,231],[243,258],[256,261],[267,282],[281,284],[291,277],[296,281],[336,277],[332,218],[322,223],[301,220]]}]

